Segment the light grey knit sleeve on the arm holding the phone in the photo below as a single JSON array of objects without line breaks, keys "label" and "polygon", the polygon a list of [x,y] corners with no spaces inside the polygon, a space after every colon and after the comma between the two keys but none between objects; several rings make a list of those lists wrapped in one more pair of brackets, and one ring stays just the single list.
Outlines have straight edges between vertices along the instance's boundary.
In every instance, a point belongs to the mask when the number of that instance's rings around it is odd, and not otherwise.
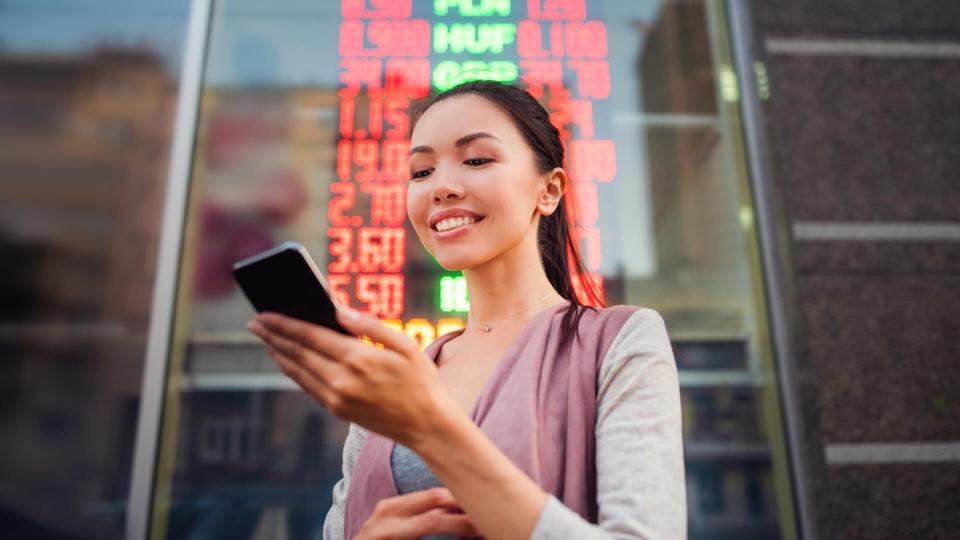
[{"label": "light grey knit sleeve on the arm holding the phone", "polygon": [[550,495],[531,539],[685,539],[680,386],[656,311],[631,315],[603,358],[595,436],[599,523]]}]

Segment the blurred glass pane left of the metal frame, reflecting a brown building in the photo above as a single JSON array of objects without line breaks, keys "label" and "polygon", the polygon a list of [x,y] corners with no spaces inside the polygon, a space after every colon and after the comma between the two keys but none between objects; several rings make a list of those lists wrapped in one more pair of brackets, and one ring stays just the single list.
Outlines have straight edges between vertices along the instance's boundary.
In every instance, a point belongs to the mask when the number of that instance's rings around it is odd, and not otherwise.
[{"label": "blurred glass pane left of the metal frame, reflecting a brown building", "polygon": [[0,3],[0,535],[121,538],[186,0]]}]

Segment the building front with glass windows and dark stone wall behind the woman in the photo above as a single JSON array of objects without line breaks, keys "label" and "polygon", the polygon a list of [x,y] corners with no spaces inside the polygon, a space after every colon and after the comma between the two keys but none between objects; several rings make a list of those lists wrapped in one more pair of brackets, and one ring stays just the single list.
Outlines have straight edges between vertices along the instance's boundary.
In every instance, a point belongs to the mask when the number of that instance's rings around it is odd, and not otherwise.
[{"label": "building front with glass windows and dark stone wall behind the woman", "polygon": [[691,538],[947,538],[960,7],[0,2],[0,531],[318,538],[346,425],[244,330],[284,240],[426,345],[410,106],[551,111],[588,271],[666,319]]}]

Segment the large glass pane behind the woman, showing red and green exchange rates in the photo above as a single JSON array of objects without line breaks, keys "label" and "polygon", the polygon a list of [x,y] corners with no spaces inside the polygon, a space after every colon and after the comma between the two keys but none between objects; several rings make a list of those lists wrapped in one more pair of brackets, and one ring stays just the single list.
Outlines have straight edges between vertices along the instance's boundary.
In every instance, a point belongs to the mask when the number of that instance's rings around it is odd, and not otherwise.
[{"label": "large glass pane behind the woman, showing red and green exchange rates", "polygon": [[[230,264],[297,240],[340,300],[427,344],[469,298],[406,223],[410,106],[470,78],[552,111],[588,270],[677,348],[691,538],[790,536],[790,479],[716,2],[406,0],[213,16],[154,535],[318,534],[346,427],[244,330]],[[380,6],[380,7],[377,7]],[[271,529],[273,530],[273,529]]]}]

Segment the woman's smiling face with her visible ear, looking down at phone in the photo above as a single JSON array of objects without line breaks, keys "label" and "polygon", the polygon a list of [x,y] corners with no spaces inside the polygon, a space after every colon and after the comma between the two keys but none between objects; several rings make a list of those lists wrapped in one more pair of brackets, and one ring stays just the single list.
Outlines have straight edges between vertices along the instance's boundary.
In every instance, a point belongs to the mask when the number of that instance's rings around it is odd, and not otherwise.
[{"label": "woman's smiling face with her visible ear, looking down at phone", "polygon": [[562,195],[557,173],[537,171],[510,117],[477,95],[427,109],[410,148],[407,216],[448,270],[488,262],[531,234],[535,245],[538,216],[552,213]]}]

